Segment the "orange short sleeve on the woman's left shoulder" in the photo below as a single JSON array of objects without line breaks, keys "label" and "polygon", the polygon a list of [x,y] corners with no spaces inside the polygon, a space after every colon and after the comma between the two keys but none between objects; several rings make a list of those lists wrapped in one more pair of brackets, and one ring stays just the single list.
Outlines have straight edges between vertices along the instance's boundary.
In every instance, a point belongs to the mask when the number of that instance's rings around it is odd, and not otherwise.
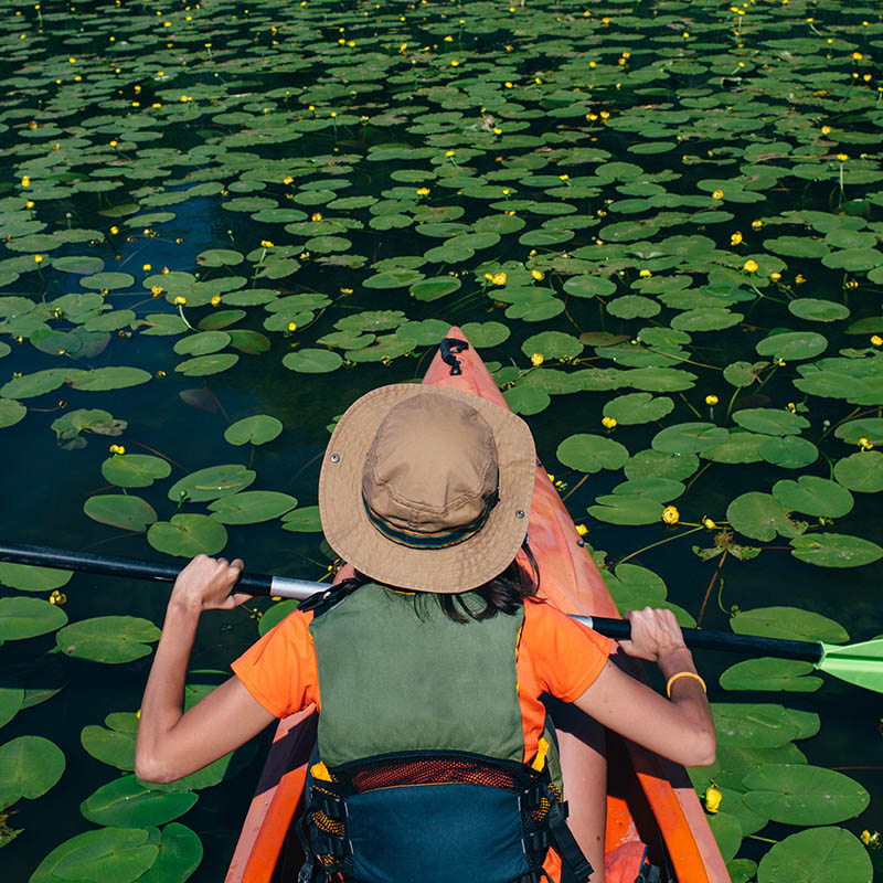
[{"label": "orange short sleeve on the woman's left shoulder", "polygon": [[245,689],[276,717],[294,714],[311,703],[319,706],[311,621],[311,611],[295,611],[231,666]]}]

